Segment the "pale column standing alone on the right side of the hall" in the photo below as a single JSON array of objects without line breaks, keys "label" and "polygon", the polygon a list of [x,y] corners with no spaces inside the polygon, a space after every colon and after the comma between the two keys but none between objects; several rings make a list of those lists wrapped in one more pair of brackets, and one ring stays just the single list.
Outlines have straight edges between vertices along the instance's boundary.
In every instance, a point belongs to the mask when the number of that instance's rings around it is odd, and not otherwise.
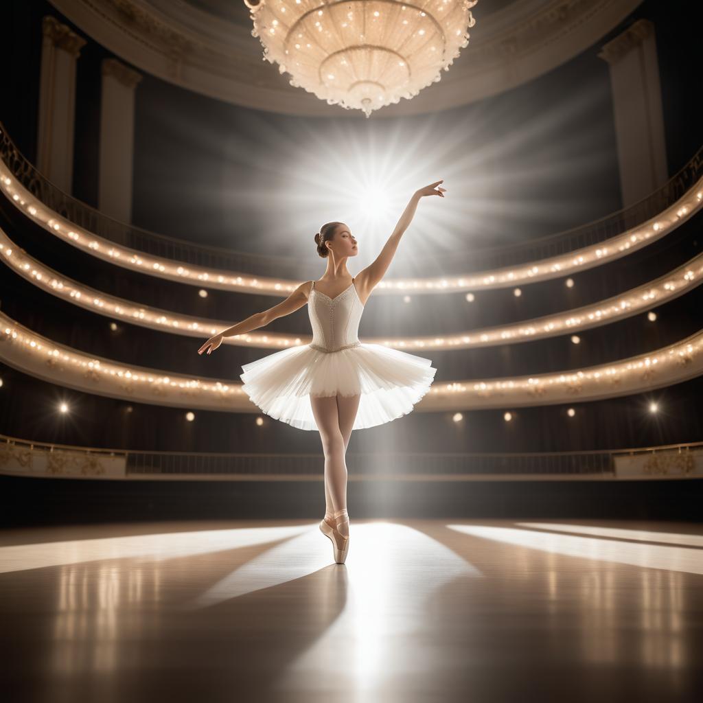
[{"label": "pale column standing alone on the right side of the hall", "polygon": [[638,20],[598,56],[610,65],[620,188],[628,207],[662,186],[668,172],[654,25]]}]

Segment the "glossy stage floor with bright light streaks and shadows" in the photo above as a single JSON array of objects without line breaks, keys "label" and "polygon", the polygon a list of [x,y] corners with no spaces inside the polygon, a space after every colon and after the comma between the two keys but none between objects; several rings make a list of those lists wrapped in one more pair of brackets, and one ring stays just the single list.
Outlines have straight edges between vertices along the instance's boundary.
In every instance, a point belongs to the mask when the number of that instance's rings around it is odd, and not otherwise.
[{"label": "glossy stage floor with bright light streaks and shadows", "polygon": [[703,525],[354,520],[0,533],[11,701],[703,699]]}]

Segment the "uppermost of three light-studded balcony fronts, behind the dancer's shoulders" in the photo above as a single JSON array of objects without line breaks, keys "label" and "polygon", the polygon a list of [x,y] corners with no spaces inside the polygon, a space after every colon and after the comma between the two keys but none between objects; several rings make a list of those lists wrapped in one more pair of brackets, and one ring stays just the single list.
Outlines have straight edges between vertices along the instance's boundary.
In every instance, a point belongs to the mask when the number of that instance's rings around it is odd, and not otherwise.
[{"label": "uppermost of three light-studded balcony fronts, behind the dancer's shoulders", "polygon": [[[126,269],[141,271],[159,278],[178,280],[189,285],[205,285],[207,288],[236,290],[259,295],[287,296],[299,283],[231,273],[218,269],[188,266],[162,257],[120,247],[109,240],[72,224],[56,212],[48,209],[38,198],[22,186],[0,161],[0,190],[32,221],[67,243],[95,257]],[[703,178],[690,188],[679,200],[666,207],[657,217],[646,221],[618,236],[597,245],[560,254],[549,259],[521,264],[494,271],[483,271],[465,276],[442,276],[440,278],[396,278],[382,280],[376,290],[380,293],[432,293],[462,292],[509,288],[517,284],[536,283],[591,269],[635,252],[669,232],[697,212],[703,204]],[[473,295],[473,294],[470,294]]]}]

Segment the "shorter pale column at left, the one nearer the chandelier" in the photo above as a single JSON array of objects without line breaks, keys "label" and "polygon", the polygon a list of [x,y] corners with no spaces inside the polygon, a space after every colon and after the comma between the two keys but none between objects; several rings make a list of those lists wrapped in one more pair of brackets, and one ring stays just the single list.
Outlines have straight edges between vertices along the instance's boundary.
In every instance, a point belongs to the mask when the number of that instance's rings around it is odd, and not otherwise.
[{"label": "shorter pale column at left, the one nearer the chandelier", "polygon": [[141,74],[114,58],[103,60],[98,209],[131,221],[134,89]]}]

